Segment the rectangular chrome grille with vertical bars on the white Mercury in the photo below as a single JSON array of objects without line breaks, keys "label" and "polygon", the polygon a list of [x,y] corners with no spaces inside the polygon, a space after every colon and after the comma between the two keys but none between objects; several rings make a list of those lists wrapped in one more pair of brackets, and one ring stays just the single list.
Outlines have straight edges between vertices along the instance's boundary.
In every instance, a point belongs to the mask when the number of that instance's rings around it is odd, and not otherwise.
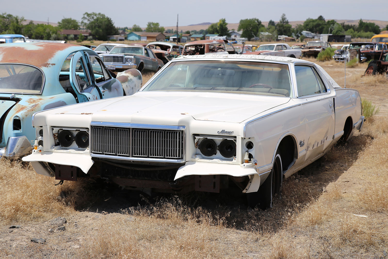
[{"label": "rectangular chrome grille with vertical bars on the white Mercury", "polygon": [[91,126],[91,153],[133,158],[182,160],[184,131]]}]

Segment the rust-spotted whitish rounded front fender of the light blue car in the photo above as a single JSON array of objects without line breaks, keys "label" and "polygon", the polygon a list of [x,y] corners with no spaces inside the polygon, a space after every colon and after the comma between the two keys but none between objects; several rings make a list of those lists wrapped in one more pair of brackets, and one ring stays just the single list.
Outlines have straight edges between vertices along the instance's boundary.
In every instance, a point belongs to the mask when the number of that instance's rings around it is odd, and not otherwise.
[{"label": "rust-spotted whitish rounded front fender of the light blue car", "polygon": [[125,95],[129,96],[139,91],[143,85],[142,73],[135,68],[127,69],[123,72],[117,73],[116,79],[120,81],[123,86]]}]

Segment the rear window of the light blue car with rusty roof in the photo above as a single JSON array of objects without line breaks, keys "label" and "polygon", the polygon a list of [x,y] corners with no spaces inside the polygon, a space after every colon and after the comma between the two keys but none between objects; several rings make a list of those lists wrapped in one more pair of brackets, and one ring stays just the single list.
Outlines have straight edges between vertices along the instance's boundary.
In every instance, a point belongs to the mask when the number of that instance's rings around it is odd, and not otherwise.
[{"label": "rear window of the light blue car with rusty roof", "polygon": [[43,74],[38,68],[21,64],[0,64],[0,92],[39,94]]}]

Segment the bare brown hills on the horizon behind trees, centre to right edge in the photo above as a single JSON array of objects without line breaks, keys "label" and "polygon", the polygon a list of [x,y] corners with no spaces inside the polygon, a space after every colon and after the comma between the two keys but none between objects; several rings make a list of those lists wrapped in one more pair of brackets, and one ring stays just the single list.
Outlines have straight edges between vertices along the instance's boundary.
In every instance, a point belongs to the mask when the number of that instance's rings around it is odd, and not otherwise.
[{"label": "bare brown hills on the horizon behind trees, centre to right edge", "polygon": [[[331,20],[331,19],[326,19],[326,21],[328,20]],[[334,19],[334,21],[336,21],[337,23],[346,23],[346,24],[354,24],[354,25],[357,25],[359,24],[359,20],[340,20],[340,19]],[[378,26],[380,26],[380,28],[384,28],[387,24],[388,24],[388,21],[379,21],[379,20],[365,20],[365,19],[362,19],[362,21],[364,21],[365,23],[375,23],[377,24]],[[293,26],[293,27],[296,27],[296,25],[298,24],[303,24],[305,21],[289,21],[289,23]],[[198,23],[198,24],[191,24],[191,25],[187,25],[187,26],[179,26],[178,27],[178,30],[182,30],[182,31],[192,31],[192,30],[206,30],[209,25],[212,24],[212,23]],[[268,22],[263,22],[262,21],[262,24],[264,26],[268,26]],[[171,29],[171,30],[175,30],[177,28],[177,26],[164,26],[165,29]],[[228,23],[228,29],[229,30],[232,30],[232,29],[235,29],[237,30],[237,28],[239,27],[239,23]]]}]

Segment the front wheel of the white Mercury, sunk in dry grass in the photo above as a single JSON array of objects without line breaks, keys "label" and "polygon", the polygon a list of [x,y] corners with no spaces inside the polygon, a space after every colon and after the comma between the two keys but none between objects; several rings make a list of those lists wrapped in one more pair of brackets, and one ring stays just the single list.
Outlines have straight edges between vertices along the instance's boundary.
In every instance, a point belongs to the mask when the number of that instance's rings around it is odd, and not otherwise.
[{"label": "front wheel of the white Mercury, sunk in dry grass", "polygon": [[279,151],[276,152],[274,165],[270,174],[258,191],[255,193],[247,193],[249,207],[254,208],[258,206],[260,209],[265,210],[272,207],[272,201],[274,200],[275,195],[280,195],[282,184],[282,158],[278,152]]}]

